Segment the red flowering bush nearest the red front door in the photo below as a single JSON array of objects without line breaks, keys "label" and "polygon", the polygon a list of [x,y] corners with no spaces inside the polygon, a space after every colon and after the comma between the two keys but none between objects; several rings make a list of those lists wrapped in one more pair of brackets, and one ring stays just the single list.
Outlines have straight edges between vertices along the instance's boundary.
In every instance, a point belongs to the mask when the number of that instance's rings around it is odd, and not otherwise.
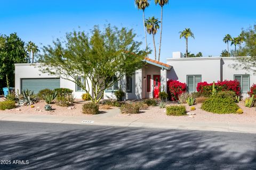
[{"label": "red flowering bush nearest the red front door", "polygon": [[181,83],[177,80],[168,80],[167,87],[170,100],[172,101],[179,100],[178,96],[183,92],[186,92],[187,89],[186,83]]}]

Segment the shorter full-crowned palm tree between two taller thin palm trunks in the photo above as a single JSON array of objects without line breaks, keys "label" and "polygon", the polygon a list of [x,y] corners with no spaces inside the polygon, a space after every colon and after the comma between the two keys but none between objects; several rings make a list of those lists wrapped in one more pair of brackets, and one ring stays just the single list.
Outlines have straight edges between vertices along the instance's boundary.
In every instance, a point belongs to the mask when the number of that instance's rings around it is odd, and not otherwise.
[{"label": "shorter full-crowned palm tree between two taller thin palm trunks", "polygon": [[148,19],[146,19],[145,21],[145,26],[147,28],[147,32],[149,34],[153,35],[153,43],[154,43],[154,49],[155,49],[155,60],[156,60],[156,44],[155,44],[155,35],[157,33],[157,30],[159,29],[159,23],[160,21],[158,21],[158,19],[156,19],[154,16],[153,17],[149,17]]}]

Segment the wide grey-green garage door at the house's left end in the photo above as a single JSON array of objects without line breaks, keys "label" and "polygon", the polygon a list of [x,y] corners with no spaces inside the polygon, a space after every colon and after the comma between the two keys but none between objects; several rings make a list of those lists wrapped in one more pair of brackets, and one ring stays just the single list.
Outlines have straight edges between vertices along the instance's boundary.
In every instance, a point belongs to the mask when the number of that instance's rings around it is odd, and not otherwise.
[{"label": "wide grey-green garage door at the house's left end", "polygon": [[37,94],[42,89],[60,88],[60,79],[21,79],[21,89],[34,91]]}]

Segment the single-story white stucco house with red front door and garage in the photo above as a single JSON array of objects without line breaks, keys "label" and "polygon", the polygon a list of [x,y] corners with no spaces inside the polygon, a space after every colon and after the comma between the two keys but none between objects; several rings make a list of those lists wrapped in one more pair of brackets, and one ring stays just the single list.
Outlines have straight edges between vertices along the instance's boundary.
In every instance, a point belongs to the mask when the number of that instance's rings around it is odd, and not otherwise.
[{"label": "single-story white stucco house with red front door and garage", "polygon": [[[183,58],[182,53],[173,52],[172,58],[167,58],[166,64],[149,58],[145,58],[144,61],[146,65],[142,69],[106,89],[103,99],[115,99],[114,91],[119,87],[125,92],[124,99],[158,97],[159,91],[167,90],[168,80],[185,82],[188,91],[194,92],[198,82],[236,79],[241,83],[243,95],[246,95],[252,84],[256,83],[256,76],[252,72],[232,67],[237,62],[235,57]],[[29,89],[36,94],[45,88],[69,88],[74,91],[77,99],[85,93],[74,82],[42,73],[38,65],[40,64],[15,64],[16,91]],[[90,94],[93,96],[92,91]]]}]

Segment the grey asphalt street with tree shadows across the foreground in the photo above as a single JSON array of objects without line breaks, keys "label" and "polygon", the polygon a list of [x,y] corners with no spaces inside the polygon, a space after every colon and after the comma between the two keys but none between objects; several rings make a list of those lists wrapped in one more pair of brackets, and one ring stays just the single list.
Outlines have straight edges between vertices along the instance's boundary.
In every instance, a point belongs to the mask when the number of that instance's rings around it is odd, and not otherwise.
[{"label": "grey asphalt street with tree shadows across the foreground", "polygon": [[256,169],[256,134],[0,121],[0,169]]}]

